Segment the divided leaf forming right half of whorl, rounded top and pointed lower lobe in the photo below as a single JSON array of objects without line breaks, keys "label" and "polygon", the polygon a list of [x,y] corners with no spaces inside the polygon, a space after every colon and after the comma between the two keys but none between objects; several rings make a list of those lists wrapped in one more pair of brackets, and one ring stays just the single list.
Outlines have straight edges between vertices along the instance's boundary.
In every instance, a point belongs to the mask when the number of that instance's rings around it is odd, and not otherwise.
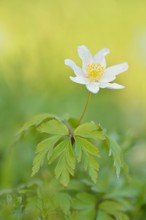
[{"label": "divided leaf forming right half of whorl, rounded top and pointed lower lobe", "polygon": [[77,161],[82,160],[84,169],[88,170],[89,176],[95,183],[99,171],[99,150],[93,141],[104,140],[105,134],[100,126],[90,122],[79,125],[75,129],[74,135]]}]

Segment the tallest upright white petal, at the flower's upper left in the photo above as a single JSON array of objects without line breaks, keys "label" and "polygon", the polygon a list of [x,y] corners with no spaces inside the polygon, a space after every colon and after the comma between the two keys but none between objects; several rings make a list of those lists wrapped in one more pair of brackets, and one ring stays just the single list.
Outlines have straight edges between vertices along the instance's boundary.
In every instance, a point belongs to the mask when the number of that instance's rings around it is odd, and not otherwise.
[{"label": "tallest upright white petal, at the flower's upper left", "polygon": [[92,55],[90,51],[88,50],[88,48],[84,45],[78,47],[78,54],[82,60],[82,69],[84,73],[86,73],[87,65],[89,63],[92,63],[93,61]]}]

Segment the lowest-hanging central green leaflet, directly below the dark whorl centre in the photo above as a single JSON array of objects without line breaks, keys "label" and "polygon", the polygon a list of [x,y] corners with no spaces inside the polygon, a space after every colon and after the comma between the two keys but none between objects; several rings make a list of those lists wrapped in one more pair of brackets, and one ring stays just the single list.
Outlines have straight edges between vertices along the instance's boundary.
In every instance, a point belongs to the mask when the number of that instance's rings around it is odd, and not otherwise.
[{"label": "lowest-hanging central green leaflet, directly below the dark whorl centre", "polygon": [[74,175],[75,157],[70,138],[62,140],[54,149],[49,164],[58,158],[55,167],[55,176],[60,182],[67,186],[70,181],[70,175]]}]

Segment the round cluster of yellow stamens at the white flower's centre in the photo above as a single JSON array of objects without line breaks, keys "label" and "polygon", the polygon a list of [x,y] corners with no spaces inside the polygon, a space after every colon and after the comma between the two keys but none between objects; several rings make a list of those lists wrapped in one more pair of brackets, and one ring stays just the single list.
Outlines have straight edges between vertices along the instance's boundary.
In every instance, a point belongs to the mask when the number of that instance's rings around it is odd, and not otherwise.
[{"label": "round cluster of yellow stamens at the white flower's centre", "polygon": [[101,64],[88,64],[87,77],[90,81],[98,81],[102,78],[105,68]]}]

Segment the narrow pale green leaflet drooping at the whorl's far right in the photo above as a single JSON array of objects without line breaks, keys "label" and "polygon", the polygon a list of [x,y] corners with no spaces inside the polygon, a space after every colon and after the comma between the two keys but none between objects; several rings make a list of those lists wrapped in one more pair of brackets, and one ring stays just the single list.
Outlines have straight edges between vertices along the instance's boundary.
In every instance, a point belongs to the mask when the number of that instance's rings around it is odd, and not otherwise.
[{"label": "narrow pale green leaflet drooping at the whorl's far right", "polygon": [[117,177],[119,178],[120,170],[123,167],[122,150],[118,145],[118,143],[111,137],[108,137],[108,142],[109,142],[109,156],[113,157],[114,166],[116,168],[116,174]]}]

